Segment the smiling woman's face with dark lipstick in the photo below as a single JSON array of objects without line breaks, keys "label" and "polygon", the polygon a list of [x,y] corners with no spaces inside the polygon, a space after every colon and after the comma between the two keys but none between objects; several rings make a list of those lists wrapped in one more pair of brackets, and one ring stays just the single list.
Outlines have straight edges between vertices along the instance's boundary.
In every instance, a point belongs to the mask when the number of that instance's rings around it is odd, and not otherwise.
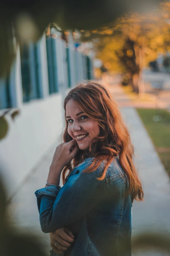
[{"label": "smiling woman's face with dark lipstick", "polygon": [[91,140],[99,136],[97,121],[88,117],[72,99],[66,104],[66,120],[68,134],[77,141],[79,149],[89,148]]}]

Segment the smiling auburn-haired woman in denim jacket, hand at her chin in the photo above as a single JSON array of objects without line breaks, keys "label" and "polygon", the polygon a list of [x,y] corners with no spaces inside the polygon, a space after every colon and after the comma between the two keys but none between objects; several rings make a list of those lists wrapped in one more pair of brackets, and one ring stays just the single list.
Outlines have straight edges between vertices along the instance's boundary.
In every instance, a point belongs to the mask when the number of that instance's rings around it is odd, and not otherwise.
[{"label": "smiling auburn-haired woman in denim jacket, hand at her chin", "polygon": [[58,255],[129,256],[132,202],[143,190],[118,105],[91,81],[68,93],[64,110],[64,143],[45,188],[35,192],[41,229]]}]

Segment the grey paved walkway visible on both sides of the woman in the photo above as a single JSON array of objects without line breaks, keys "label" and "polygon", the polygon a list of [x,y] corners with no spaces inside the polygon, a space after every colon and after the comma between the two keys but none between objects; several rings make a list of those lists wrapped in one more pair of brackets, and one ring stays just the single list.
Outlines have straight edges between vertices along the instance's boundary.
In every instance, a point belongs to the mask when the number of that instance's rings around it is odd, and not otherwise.
[{"label": "grey paved walkway visible on both sides of the woman", "polygon": [[[108,87],[120,105],[121,102],[129,100],[118,85],[112,84]],[[121,111],[135,145],[135,162],[145,192],[145,201],[135,202],[133,205],[132,235],[145,230],[162,230],[170,234],[170,182],[168,175],[135,109],[126,107],[121,108]],[[21,187],[9,207],[10,213],[13,213],[15,225],[29,230],[29,232],[36,232],[48,252],[50,249],[49,234],[44,234],[40,230],[34,192],[45,185],[57,144],[58,142],[51,146],[45,161],[41,162],[35,173]]]}]

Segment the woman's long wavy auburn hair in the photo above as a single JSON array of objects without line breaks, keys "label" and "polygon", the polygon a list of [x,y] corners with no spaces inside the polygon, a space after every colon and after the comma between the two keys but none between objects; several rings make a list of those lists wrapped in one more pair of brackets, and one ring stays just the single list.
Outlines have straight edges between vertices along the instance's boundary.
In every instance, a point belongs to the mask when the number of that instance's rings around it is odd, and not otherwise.
[{"label": "woman's long wavy auburn hair", "polygon": [[[88,149],[79,149],[72,163],[64,167],[62,173],[63,184],[73,168],[89,157],[94,157],[94,161],[84,172],[95,171],[100,163],[106,160],[103,174],[98,178],[103,180],[109,164],[115,160],[116,156],[119,156],[120,165],[129,181],[128,194],[132,193],[132,198],[137,201],[143,200],[142,185],[133,162],[134,146],[131,143],[128,129],[122,120],[117,102],[112,98],[106,87],[96,81],[80,83],[73,88],[65,97],[65,112],[66,104],[70,99],[73,99],[87,116],[97,120],[100,134],[92,139]],[[66,120],[63,135],[64,142],[72,140],[72,137],[67,132],[67,128],[68,122]],[[67,170],[69,172],[66,175]]]}]

